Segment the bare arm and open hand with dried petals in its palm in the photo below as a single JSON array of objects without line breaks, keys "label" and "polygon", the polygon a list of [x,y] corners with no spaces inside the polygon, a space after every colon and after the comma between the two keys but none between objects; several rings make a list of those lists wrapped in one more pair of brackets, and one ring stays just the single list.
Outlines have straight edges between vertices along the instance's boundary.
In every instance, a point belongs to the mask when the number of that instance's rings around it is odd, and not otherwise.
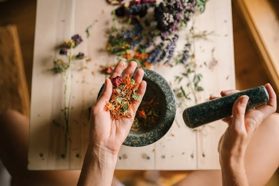
[{"label": "bare arm and open hand with dried petals in its palm", "polygon": [[[124,66],[124,62],[119,62],[110,78],[121,76]],[[136,67],[137,63],[131,61],[123,72],[123,78],[131,77]],[[143,75],[142,69],[137,69],[134,75],[134,81],[139,85],[137,95],[141,96],[141,99],[146,89],[146,82],[142,81]],[[91,109],[89,145],[78,186],[111,186],[118,152],[131,129],[135,112],[131,111],[130,118],[121,117],[115,120],[111,118],[109,110],[104,110],[112,96],[112,87],[111,80],[106,79],[104,90]],[[141,99],[133,104],[134,110],[138,109]]]}]

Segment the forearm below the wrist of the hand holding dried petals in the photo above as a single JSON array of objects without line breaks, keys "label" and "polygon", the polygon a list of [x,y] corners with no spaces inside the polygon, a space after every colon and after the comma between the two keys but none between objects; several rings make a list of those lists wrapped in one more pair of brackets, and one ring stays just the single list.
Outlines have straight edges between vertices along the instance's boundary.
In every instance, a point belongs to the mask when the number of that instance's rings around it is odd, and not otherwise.
[{"label": "forearm below the wrist of the hand holding dried petals", "polygon": [[110,186],[117,155],[89,145],[83,162],[78,186]]}]

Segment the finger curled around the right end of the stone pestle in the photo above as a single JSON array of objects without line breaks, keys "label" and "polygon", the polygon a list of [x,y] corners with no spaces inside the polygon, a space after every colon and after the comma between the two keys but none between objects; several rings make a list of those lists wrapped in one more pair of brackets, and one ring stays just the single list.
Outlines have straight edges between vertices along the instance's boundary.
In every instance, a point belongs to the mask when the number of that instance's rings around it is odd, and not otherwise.
[{"label": "finger curled around the right end of the stone pestle", "polygon": [[272,86],[267,83],[264,85],[264,87],[267,89],[268,95],[269,95],[269,101],[265,106],[262,106],[258,110],[261,111],[264,114],[264,119],[267,118],[269,115],[271,115],[273,112],[277,109],[277,101],[276,101],[276,94],[273,90]]}]

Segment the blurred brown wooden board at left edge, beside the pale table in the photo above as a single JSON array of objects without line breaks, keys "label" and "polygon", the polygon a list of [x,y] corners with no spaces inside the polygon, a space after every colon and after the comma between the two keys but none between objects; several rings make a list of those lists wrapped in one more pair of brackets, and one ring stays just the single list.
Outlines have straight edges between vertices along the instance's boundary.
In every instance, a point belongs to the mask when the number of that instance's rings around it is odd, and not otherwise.
[{"label": "blurred brown wooden board at left edge, beside the pale table", "polygon": [[0,27],[0,95],[0,113],[15,109],[29,117],[29,92],[15,25]]}]

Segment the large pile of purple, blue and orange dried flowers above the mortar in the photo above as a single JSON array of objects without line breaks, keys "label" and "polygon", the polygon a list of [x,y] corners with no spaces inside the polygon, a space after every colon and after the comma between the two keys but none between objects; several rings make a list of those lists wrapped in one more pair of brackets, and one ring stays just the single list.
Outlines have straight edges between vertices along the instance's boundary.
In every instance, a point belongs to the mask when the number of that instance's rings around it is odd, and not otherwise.
[{"label": "large pile of purple, blue and orange dried flowers above the mortar", "polygon": [[[175,54],[177,32],[187,25],[195,12],[204,11],[206,1],[164,0],[158,6],[156,0],[132,0],[123,4],[118,1],[117,4],[121,6],[115,9],[114,15],[118,18],[128,17],[128,23],[135,26],[126,31],[122,28],[120,33],[116,31],[116,35],[111,34],[107,50],[129,61],[136,61],[138,66],[142,67],[149,66],[147,63],[155,64],[161,61],[170,65]],[[150,8],[154,8],[151,19],[146,16]],[[162,41],[156,44],[158,37]],[[147,53],[146,50],[152,46],[153,50]],[[141,58],[138,58],[139,55]],[[185,64],[188,57],[189,53],[186,51],[181,63]]]}]

